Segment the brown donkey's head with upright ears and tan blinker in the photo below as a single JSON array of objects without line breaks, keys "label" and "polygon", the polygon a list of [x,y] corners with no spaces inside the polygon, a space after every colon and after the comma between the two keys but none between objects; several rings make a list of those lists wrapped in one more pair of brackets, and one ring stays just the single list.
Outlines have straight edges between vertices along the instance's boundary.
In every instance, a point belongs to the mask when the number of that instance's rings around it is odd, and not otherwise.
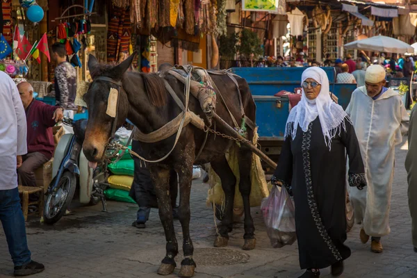
[{"label": "brown donkey's head with upright ears and tan blinker", "polygon": [[100,65],[95,56],[89,56],[88,70],[93,81],[84,95],[88,106],[88,124],[85,129],[83,152],[88,161],[92,162],[92,167],[104,159],[113,124],[115,129],[122,126],[129,112],[129,102],[122,80],[135,55],[136,53],[132,54],[119,65]]}]

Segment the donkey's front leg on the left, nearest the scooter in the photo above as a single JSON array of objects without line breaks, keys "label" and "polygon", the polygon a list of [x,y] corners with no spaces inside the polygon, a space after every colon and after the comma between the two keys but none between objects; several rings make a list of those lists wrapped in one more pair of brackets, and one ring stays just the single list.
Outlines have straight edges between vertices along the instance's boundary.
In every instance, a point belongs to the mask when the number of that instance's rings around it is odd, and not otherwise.
[{"label": "donkey's front leg on the left, nearest the scooter", "polygon": [[175,238],[174,221],[172,219],[172,205],[170,199],[170,170],[156,165],[149,166],[152,182],[158,198],[159,218],[165,231],[167,240],[166,255],[158,269],[159,275],[170,275],[177,264],[175,256],[178,254],[178,243]]}]

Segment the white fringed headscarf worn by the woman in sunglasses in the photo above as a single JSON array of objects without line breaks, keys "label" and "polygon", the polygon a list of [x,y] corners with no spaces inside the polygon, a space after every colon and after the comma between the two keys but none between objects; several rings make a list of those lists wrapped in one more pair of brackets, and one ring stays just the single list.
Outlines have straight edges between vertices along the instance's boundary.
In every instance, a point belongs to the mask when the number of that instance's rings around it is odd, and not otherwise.
[{"label": "white fringed headscarf worn by the woman in sunglasses", "polygon": [[291,135],[294,139],[297,135],[297,127],[300,126],[302,131],[309,129],[309,124],[316,120],[318,116],[322,126],[325,143],[332,146],[332,138],[341,133],[341,126],[346,129],[345,118],[350,121],[349,117],[343,110],[342,106],[336,104],[329,91],[329,79],[327,74],[320,67],[309,67],[302,73],[301,83],[306,79],[314,79],[321,85],[320,93],[316,99],[307,99],[302,90],[301,101],[291,109],[286,123],[285,137]]}]

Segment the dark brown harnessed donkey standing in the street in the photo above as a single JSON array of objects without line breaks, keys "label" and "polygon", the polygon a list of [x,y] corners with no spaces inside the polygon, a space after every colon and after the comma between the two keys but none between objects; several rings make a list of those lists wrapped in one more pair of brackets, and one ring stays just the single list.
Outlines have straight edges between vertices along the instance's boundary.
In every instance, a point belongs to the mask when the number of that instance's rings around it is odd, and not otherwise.
[{"label": "dark brown harnessed donkey standing in the street", "polygon": [[[88,60],[88,69],[92,76],[92,83],[84,99],[88,105],[89,118],[85,130],[85,140],[83,142],[83,152],[85,157],[90,161],[90,165],[100,162],[105,157],[106,145],[109,138],[113,136],[112,126],[115,119],[115,127],[119,128],[124,124],[125,119],[129,119],[136,128],[142,133],[150,133],[160,129],[181,113],[181,108],[174,101],[165,89],[164,79],[171,85],[177,97],[184,103],[184,85],[171,74],[165,74],[161,77],[158,74],[143,74],[140,72],[127,71],[132,63],[135,54],[129,56],[119,65],[100,65],[97,59],[90,55]],[[211,74],[211,78],[217,85],[224,98],[224,102],[229,107],[231,114],[234,115],[238,124],[240,120],[239,97],[236,84],[229,76],[224,74]],[[245,115],[255,122],[256,106],[249,86],[245,79],[236,76],[238,88],[240,90],[241,101]],[[117,116],[115,118],[106,114],[108,107],[108,96],[111,88],[117,87],[115,83],[120,84],[119,104],[117,106]],[[199,101],[190,96],[189,110],[193,111],[199,117],[204,118],[204,113],[200,107]],[[215,112],[227,124],[233,126],[231,115],[226,106],[218,97]],[[221,124],[213,123],[213,129],[222,133],[227,133]],[[230,133],[229,133],[230,135]],[[165,140],[155,143],[141,144],[142,151],[140,155],[149,160],[156,160],[165,156],[172,146],[177,134],[170,136]],[[247,129],[247,139],[252,140],[253,131]],[[204,140],[206,144],[204,145]],[[183,261],[181,261],[181,270],[179,277],[193,277],[195,262],[193,261],[193,242],[190,238],[190,190],[193,179],[193,164],[211,163],[213,170],[219,175],[222,181],[222,188],[225,194],[225,215],[219,227],[219,234],[215,238],[215,247],[227,246],[229,236],[228,232],[232,229],[233,208],[236,178],[231,171],[225,153],[236,142],[215,136],[212,133],[206,133],[197,129],[192,124],[184,126],[181,136],[177,142],[174,151],[164,161],[160,163],[148,163],[151,179],[154,183],[156,196],[158,199],[159,217],[165,231],[166,238],[166,256],[161,262],[158,269],[160,275],[170,275],[177,266],[174,258],[178,254],[177,238],[174,234],[174,224],[172,220],[172,206],[169,191],[170,170],[177,172],[179,177],[179,221],[183,231]],[[195,158],[200,148],[204,145],[197,161]],[[244,250],[252,250],[256,245],[254,237],[254,223],[250,215],[250,169],[252,163],[252,152],[250,149],[240,147],[238,152],[240,183],[239,190],[243,197],[245,210],[245,244]],[[97,164],[96,164],[97,165]]]}]

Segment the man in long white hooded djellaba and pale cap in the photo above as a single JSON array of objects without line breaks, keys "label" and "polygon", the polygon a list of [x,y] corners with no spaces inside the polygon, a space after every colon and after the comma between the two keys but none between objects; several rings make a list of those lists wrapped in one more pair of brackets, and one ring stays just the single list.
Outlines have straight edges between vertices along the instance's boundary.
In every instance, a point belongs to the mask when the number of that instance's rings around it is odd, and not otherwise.
[{"label": "man in long white hooded djellaba and pale cap", "polygon": [[370,250],[381,253],[381,237],[390,233],[389,209],[394,175],[395,145],[408,131],[409,115],[398,92],[385,88],[385,70],[371,65],[365,85],[352,93],[346,113],[357,133],[368,186],[349,188],[354,218],[361,224],[363,244],[371,237]]}]

